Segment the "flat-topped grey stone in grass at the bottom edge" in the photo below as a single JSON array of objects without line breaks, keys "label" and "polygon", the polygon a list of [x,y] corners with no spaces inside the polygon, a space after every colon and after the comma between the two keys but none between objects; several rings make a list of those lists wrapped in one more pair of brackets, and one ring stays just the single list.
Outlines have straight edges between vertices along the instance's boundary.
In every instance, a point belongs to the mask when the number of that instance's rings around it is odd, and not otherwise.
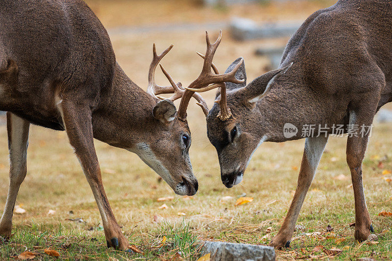
[{"label": "flat-topped grey stone in grass at the bottom edge", "polygon": [[202,242],[202,255],[211,254],[211,261],[273,261],[275,250],[270,246],[228,242]]}]

